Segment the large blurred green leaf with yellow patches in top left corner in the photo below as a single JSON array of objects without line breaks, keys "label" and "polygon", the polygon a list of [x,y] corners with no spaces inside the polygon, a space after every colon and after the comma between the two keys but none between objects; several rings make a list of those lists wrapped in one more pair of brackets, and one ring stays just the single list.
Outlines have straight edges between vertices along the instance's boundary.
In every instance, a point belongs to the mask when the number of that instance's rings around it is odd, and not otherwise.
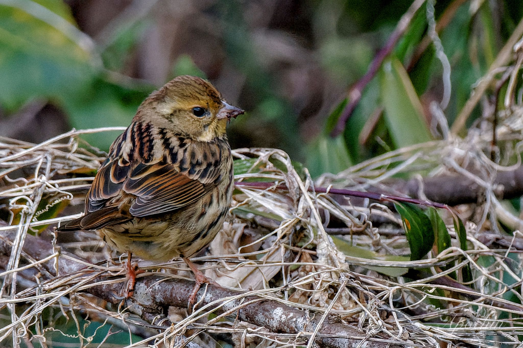
[{"label": "large blurred green leaf with yellow patches in top left corner", "polygon": [[[81,47],[81,40],[72,40],[79,31],[70,24],[69,8],[59,0],[40,3],[0,5],[0,106],[7,111],[32,98],[78,95],[96,72],[93,52]],[[55,26],[33,14],[51,18]]]}]

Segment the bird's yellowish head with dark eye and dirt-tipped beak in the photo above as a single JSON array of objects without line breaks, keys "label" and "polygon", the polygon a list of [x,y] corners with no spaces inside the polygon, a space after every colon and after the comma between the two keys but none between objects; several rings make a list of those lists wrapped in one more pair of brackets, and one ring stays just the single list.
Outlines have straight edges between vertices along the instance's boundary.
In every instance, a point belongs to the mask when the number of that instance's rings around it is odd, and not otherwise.
[{"label": "bird's yellowish head with dark eye and dirt-tipped beak", "polygon": [[206,80],[178,76],[147,98],[137,117],[206,142],[225,136],[227,122],[242,113],[243,110],[226,103]]}]

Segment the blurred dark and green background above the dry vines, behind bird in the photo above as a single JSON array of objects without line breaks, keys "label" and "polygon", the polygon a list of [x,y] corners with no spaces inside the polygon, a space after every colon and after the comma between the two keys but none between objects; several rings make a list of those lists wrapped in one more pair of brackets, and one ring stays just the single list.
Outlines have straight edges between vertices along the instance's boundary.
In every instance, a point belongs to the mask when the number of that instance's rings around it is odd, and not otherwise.
[{"label": "blurred dark and green background above the dry vines, behind bird", "polygon": [[[152,90],[192,74],[210,79],[247,111],[231,123],[233,148],[279,147],[313,175],[336,172],[408,145],[402,134],[420,132],[410,118],[426,128],[412,141],[437,136],[428,132],[427,106],[441,99],[441,63],[423,42],[425,5],[389,56],[389,68],[365,89],[345,132],[328,136],[348,87],[411,4],[0,0],[0,135],[41,142],[71,127],[128,125]],[[522,15],[520,0],[436,3],[452,66],[449,121]],[[115,136],[86,139],[107,149]]]}]

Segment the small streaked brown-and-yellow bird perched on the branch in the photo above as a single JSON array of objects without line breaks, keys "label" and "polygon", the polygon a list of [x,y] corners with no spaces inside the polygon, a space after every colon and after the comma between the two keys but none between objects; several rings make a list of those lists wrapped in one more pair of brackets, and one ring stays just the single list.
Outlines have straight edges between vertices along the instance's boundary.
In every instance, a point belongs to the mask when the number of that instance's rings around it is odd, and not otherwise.
[{"label": "small streaked brown-and-yellow bird perched on the branch", "polygon": [[111,249],[164,262],[182,257],[196,285],[209,281],[189,260],[212,241],[232,199],[233,160],[226,125],[244,110],[207,80],[178,76],[152,92],[109,148],[85,199],[85,214],[58,231],[96,230]]}]

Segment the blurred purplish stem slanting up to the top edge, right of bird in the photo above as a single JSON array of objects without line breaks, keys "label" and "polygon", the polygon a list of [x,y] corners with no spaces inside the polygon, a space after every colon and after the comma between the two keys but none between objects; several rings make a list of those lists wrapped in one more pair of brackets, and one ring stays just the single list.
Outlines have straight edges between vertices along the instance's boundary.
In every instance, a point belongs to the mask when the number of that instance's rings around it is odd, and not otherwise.
[{"label": "blurred purplish stem slanting up to the top edge, right of bird", "polygon": [[367,73],[365,73],[365,75],[363,75],[363,77],[360,78],[356,84],[350,87],[350,90],[348,92],[350,100],[348,104],[345,106],[345,109],[343,109],[342,114],[339,116],[338,122],[336,123],[334,130],[331,132],[332,137],[338,136],[343,132],[347,120],[353,114],[354,109],[356,109],[356,106],[358,105],[361,99],[363,89],[376,75],[378,69],[385,60],[385,57],[392,52],[394,46],[400,40],[405,30],[407,30],[412,18],[414,17],[418,9],[423,5],[423,3],[425,3],[425,0],[415,0],[412,3],[412,5],[408,8],[405,14],[400,18],[400,21],[397,22],[396,28],[392,32],[385,46],[378,52],[378,54],[376,54],[376,56],[374,56],[374,59],[369,65]]}]

